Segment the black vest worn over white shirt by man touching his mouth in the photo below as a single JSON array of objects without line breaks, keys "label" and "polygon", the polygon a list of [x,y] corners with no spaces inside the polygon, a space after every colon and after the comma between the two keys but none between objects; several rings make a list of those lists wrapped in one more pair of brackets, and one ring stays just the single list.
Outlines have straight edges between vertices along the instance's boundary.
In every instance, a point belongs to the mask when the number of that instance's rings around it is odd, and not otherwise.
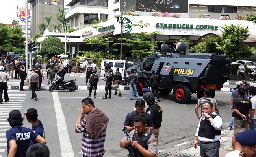
[{"label": "black vest worn over white shirt by man touching his mouth", "polygon": [[[217,115],[211,115],[214,119]],[[218,115],[219,116],[219,115]],[[208,119],[201,120],[198,136],[214,139],[215,136],[220,136],[221,130],[215,130]]]}]

